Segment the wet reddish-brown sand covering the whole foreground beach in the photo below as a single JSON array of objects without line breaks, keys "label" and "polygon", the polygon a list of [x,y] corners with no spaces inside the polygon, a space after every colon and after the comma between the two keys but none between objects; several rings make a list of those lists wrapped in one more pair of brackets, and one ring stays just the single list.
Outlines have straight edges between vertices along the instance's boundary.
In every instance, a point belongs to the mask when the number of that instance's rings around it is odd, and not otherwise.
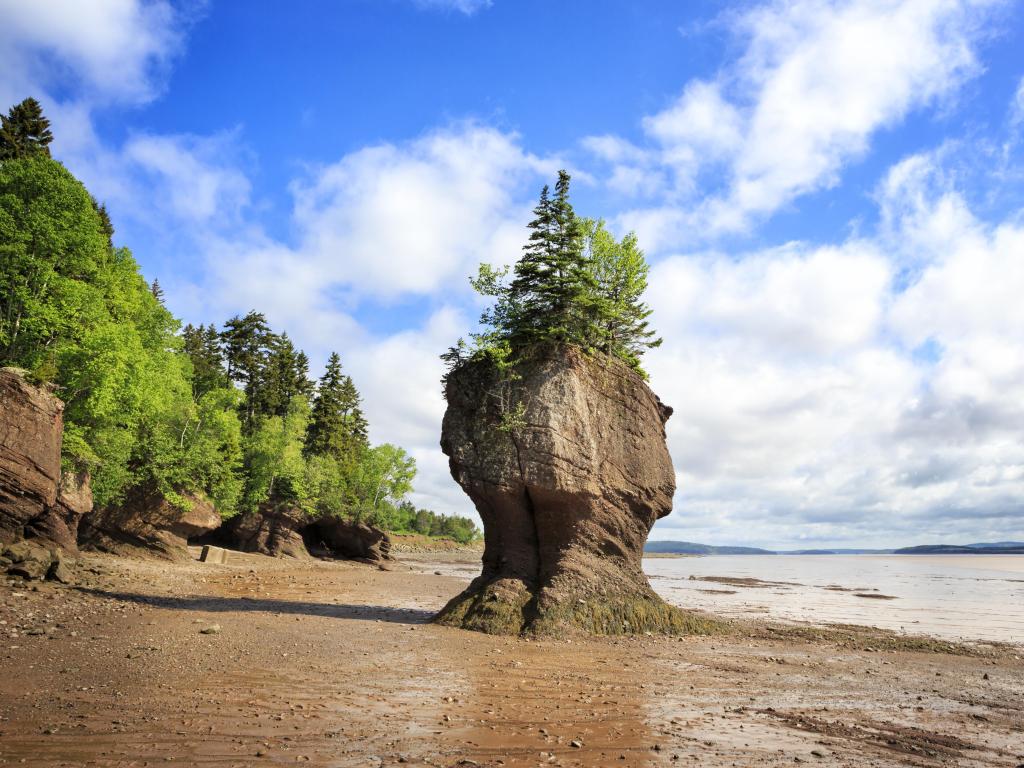
[{"label": "wet reddish-brown sand covering the whole foreground beach", "polygon": [[0,764],[1024,763],[1020,648],[881,650],[753,622],[487,637],[427,624],[465,585],[433,572],[466,567],[444,559],[89,556],[77,588],[0,584]]}]

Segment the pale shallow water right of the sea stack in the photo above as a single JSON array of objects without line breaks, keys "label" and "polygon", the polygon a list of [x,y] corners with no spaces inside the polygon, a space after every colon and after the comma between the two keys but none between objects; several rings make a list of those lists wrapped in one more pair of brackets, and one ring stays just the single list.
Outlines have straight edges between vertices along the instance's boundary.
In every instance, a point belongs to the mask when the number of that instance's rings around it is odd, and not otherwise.
[{"label": "pale shallow water right of the sea stack", "polygon": [[644,558],[666,600],[725,616],[1024,645],[1024,555]]}]

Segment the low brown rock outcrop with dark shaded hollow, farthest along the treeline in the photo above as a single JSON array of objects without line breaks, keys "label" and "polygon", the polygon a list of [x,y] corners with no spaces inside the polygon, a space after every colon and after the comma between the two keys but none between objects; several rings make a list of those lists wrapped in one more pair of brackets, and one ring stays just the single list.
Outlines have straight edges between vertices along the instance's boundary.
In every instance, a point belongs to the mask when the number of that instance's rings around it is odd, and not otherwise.
[{"label": "low brown rock outcrop with dark shaded hollow, farthest along the treeline", "polygon": [[333,515],[310,517],[289,504],[266,504],[228,520],[216,537],[226,547],[271,557],[316,557],[382,562],[391,541],[378,527]]}]

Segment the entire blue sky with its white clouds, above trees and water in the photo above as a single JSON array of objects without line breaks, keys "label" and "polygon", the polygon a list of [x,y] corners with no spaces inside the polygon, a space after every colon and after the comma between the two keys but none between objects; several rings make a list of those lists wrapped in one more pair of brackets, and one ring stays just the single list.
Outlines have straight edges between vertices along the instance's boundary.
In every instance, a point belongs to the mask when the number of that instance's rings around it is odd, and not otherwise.
[{"label": "entire blue sky with its white clouds, above trees and water", "polygon": [[437,354],[540,186],[635,229],[654,538],[1024,539],[1024,9],[1000,0],[0,0],[0,98],[194,323],[337,349],[416,501]]}]

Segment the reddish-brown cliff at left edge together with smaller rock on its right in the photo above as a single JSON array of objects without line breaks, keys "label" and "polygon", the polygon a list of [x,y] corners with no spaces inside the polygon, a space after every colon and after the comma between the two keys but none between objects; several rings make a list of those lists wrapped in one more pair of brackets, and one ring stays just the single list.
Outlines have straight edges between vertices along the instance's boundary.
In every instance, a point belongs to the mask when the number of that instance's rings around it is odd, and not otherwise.
[{"label": "reddish-brown cliff at left edge together with smaller rock on its right", "polygon": [[23,540],[77,554],[92,509],[86,472],[60,472],[63,403],[16,369],[0,369],[0,544]]}]

